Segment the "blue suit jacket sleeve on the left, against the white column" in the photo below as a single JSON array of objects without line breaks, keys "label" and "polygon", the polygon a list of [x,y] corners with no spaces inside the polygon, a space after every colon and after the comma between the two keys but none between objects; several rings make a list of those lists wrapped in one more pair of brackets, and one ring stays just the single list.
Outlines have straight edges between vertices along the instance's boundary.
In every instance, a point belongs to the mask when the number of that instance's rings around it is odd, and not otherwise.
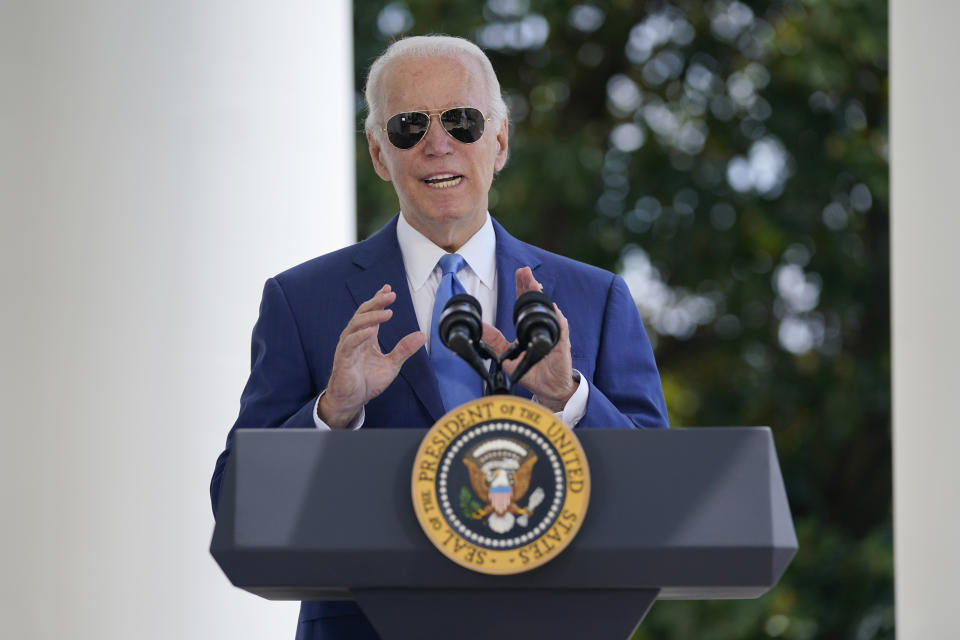
[{"label": "blue suit jacket sleeve on the left, against the white column", "polygon": [[267,280],[260,317],[253,328],[250,377],[240,396],[240,414],[227,435],[210,482],[210,500],[216,514],[220,484],[230,458],[237,429],[313,429],[313,409],[320,391],[310,373],[301,334],[283,288]]}]

